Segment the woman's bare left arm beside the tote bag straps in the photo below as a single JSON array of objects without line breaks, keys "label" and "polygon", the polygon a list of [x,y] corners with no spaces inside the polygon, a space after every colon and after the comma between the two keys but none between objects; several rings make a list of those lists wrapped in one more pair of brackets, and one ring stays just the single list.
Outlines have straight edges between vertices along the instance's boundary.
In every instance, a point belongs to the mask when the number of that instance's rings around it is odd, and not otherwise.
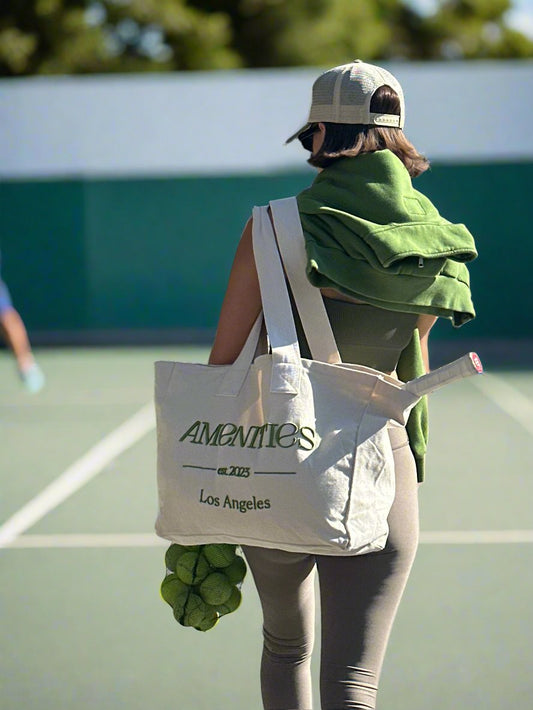
[{"label": "woman's bare left arm beside the tote bag straps", "polygon": [[210,365],[230,365],[237,359],[261,310],[261,293],[252,247],[252,219],[244,227],[226,295],[222,302]]}]

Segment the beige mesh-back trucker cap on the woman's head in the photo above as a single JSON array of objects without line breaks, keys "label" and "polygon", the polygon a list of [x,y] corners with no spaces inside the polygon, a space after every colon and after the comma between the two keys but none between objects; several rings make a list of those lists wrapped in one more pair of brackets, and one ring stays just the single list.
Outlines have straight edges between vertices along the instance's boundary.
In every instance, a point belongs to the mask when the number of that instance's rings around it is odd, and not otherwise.
[{"label": "beige mesh-back trucker cap on the woman's head", "polygon": [[[400,98],[400,115],[372,113],[370,101],[380,86],[390,86]],[[305,126],[286,143],[306,131],[313,123],[360,123],[365,126],[403,128],[405,101],[402,87],[386,69],[356,59],[350,64],[333,67],[321,74],[313,84],[309,118]]]}]

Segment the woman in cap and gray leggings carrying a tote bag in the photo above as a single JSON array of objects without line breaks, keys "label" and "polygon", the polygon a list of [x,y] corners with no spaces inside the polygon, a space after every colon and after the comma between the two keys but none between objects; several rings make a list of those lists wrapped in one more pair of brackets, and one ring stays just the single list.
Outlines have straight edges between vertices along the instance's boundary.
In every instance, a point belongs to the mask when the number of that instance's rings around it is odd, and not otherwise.
[{"label": "woman in cap and gray leggings carrying a tote bag", "polygon": [[[429,369],[428,336],[438,316],[474,317],[465,261],[475,258],[463,225],[443,219],[411,177],[429,167],[403,133],[397,80],[359,60],[313,85],[298,138],[319,169],[298,195],[307,275],[321,289],[343,361],[401,379]],[[261,310],[246,224],[231,270],[211,364],[235,360]],[[295,319],[298,323],[297,314]],[[310,357],[301,327],[303,357]],[[321,707],[375,708],[392,623],[418,542],[426,403],[407,431],[389,430],[396,495],[381,552],[351,557],[244,547],[264,617],[261,687],[267,710],[311,710],[314,575],[321,597]]]}]

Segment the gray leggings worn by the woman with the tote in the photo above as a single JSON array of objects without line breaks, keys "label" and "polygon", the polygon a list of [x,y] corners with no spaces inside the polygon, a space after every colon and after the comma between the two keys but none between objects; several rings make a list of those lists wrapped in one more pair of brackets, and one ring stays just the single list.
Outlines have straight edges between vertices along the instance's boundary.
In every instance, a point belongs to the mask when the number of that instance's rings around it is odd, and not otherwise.
[{"label": "gray leggings worn by the woman with the tote", "polygon": [[265,710],[312,710],[314,576],[321,604],[322,710],[373,710],[392,623],[418,545],[418,486],[404,429],[389,430],[396,496],[381,552],[307,555],[245,546],[263,609]]}]

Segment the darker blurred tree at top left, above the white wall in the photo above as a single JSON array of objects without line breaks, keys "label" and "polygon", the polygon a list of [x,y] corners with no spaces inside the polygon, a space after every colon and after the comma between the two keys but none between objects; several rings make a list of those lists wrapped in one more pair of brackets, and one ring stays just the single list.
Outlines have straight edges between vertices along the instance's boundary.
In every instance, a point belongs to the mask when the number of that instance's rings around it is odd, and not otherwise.
[{"label": "darker blurred tree at top left, above the white wall", "polygon": [[8,0],[0,74],[234,68],[231,39],[225,13],[187,0]]}]

